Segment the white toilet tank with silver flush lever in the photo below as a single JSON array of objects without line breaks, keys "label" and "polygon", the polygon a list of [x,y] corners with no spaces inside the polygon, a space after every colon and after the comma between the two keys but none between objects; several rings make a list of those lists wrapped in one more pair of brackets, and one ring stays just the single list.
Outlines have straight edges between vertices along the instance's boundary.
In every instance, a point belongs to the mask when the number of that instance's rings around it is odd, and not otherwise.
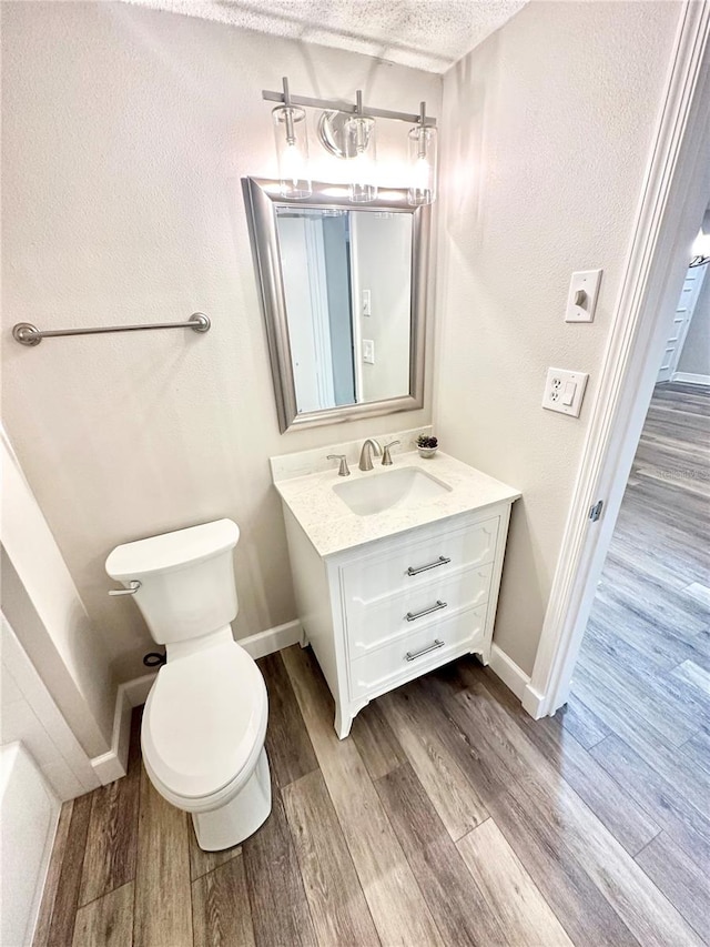
[{"label": "white toilet tank with silver flush lever", "polygon": [[236,523],[217,520],[116,546],[105,570],[128,588],[159,644],[202,637],[236,617]]}]

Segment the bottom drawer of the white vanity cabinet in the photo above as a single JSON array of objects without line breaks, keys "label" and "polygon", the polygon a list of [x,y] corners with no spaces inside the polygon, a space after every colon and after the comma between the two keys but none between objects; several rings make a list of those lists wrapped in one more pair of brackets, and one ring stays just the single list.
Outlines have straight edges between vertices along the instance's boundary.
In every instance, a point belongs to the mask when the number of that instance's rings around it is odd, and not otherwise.
[{"label": "bottom drawer of the white vanity cabinet", "polygon": [[464,649],[473,649],[483,641],[486,608],[486,605],[469,608],[353,661],[349,665],[351,698],[382,694],[444,664]]}]

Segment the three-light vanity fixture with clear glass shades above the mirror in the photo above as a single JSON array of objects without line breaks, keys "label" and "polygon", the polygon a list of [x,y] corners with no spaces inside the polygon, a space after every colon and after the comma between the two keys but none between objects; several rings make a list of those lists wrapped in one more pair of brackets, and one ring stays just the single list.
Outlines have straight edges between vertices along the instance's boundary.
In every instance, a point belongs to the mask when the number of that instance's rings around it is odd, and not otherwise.
[{"label": "three-light vanity fixture with clear glass shades above the mirror", "polygon": [[262,91],[262,99],[280,102],[273,110],[278,154],[278,173],[283,197],[302,199],[312,193],[307,170],[308,142],[305,109],[321,109],[318,141],[335,158],[352,162],[349,200],[352,203],[371,203],[378,200],[376,182],[376,119],[407,122],[409,130],[409,160],[412,174],[407,184],[412,206],[430,204],[436,200],[437,131],[436,119],[426,114],[422,102],[418,114],[394,112],[363,105],[358,90],[356,101],[333,101],[292,95],[288,80],[283,80],[283,92]]}]

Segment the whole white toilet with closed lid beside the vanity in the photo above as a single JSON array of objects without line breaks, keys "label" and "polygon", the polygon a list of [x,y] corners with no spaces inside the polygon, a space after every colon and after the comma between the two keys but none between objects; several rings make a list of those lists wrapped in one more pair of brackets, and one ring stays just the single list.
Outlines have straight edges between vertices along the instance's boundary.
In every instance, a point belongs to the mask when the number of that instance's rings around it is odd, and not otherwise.
[{"label": "whole white toilet with closed lid beside the vanity", "polygon": [[266,686],[230,627],[239,537],[236,523],[217,520],[116,546],[105,564],[166,651],[143,712],[145,770],[192,814],[206,852],[243,842],[271,812]]}]

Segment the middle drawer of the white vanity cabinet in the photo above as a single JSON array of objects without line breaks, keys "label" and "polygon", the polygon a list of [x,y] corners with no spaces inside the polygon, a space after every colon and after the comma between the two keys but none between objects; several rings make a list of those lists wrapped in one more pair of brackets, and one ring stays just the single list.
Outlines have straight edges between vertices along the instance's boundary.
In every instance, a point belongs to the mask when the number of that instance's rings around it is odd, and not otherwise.
[{"label": "middle drawer of the white vanity cabinet", "polygon": [[457,570],[454,575],[430,580],[426,585],[396,595],[347,603],[345,623],[352,659],[363,657],[403,635],[438,625],[464,608],[488,601],[493,563]]}]

